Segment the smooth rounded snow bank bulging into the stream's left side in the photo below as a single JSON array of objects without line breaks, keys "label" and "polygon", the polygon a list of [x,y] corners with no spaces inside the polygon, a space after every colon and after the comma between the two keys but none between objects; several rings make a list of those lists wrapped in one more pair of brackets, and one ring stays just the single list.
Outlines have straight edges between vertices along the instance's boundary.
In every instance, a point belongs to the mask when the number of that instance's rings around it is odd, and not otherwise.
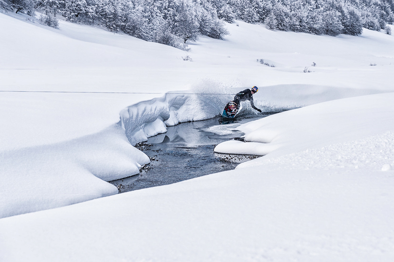
[{"label": "smooth rounded snow bank bulging into the stream's left side", "polygon": [[0,159],[0,217],[117,194],[104,180],[138,174],[149,163],[119,125],[68,142],[2,151]]}]

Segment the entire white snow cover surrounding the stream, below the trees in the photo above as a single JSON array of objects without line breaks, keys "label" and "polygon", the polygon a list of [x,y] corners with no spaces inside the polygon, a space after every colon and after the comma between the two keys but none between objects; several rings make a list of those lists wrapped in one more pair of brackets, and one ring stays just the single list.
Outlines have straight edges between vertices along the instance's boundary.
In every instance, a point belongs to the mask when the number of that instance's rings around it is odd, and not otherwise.
[{"label": "entire white snow cover surrounding the stream, below the trees", "polygon": [[[0,91],[103,93],[0,92],[1,262],[394,260],[392,35],[237,22],[185,53],[14,16],[0,13]],[[259,108],[304,107],[215,150],[265,156],[114,195],[106,181],[149,162],[132,145],[253,85]]]}]

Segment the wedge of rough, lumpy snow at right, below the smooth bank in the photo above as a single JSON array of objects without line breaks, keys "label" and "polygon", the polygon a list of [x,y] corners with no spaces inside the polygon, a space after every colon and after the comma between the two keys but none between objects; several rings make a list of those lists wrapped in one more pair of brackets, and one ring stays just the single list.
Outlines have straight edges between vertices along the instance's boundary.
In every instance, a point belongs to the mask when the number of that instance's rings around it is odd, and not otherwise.
[{"label": "wedge of rough, lumpy snow at right, below the smooth bank", "polygon": [[[393,145],[394,132],[391,130],[324,147],[321,147],[321,142],[316,143],[315,147],[317,148],[281,157],[261,158],[258,165],[270,166],[270,169],[275,170],[360,169],[362,172],[390,171],[394,165]],[[253,165],[253,163],[242,164],[237,168],[249,165]]]}]

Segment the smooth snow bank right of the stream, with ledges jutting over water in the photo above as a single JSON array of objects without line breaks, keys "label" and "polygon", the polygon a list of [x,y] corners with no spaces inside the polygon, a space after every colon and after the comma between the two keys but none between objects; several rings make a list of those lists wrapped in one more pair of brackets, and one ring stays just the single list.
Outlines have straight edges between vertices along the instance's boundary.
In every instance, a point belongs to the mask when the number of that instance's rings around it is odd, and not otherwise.
[{"label": "smooth snow bank right of the stream, with ledges jutting over water", "polygon": [[247,143],[236,141],[235,147],[235,141],[227,141],[216,146],[215,152],[268,154],[239,165],[243,167],[278,155],[391,131],[393,99],[394,93],[346,98],[271,115],[237,128],[245,132]]}]

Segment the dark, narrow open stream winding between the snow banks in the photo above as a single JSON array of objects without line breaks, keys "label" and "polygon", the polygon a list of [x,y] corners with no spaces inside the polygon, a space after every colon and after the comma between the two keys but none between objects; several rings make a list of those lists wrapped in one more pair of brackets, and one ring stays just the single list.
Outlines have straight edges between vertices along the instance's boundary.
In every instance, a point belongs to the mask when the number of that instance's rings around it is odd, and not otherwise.
[{"label": "dark, narrow open stream winding between the snow banks", "polygon": [[[275,113],[278,111],[265,112],[258,118]],[[214,148],[223,141],[242,136],[243,133],[237,131],[236,127],[258,118],[241,118],[223,123],[221,117],[215,117],[168,127],[166,133],[136,145],[151,159],[151,163],[144,166],[139,175],[110,183],[123,193],[234,169],[239,163],[258,156],[218,154]]]}]

